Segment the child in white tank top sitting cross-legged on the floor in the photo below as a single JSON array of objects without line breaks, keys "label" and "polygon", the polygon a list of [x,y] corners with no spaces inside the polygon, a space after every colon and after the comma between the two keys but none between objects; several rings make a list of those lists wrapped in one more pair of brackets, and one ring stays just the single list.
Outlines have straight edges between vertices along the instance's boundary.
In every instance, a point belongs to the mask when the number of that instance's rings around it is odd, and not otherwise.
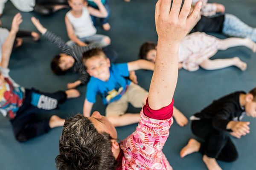
[{"label": "child in white tank top sitting cross-legged on the floor", "polygon": [[65,16],[68,37],[71,39],[67,45],[86,46],[96,45],[105,47],[110,45],[110,38],[102,34],[96,34],[96,28],[93,26],[93,21],[90,14],[95,17],[107,17],[108,12],[103,6],[101,0],[93,0],[98,9],[87,6],[87,1],[84,0],[68,0],[72,8]]}]

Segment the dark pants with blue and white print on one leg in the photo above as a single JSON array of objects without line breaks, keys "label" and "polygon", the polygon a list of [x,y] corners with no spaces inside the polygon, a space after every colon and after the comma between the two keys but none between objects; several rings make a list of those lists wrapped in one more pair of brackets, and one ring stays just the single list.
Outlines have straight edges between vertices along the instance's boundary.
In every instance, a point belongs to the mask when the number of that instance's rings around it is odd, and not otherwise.
[{"label": "dark pants with blue and white print on one leg", "polygon": [[[14,130],[15,138],[19,142],[25,142],[35,136],[42,135],[47,133],[51,128],[49,127],[49,119],[35,119],[36,113],[47,112],[50,109],[46,109],[46,107],[42,107],[38,104],[38,106],[32,105],[32,95],[37,94],[38,96],[42,96],[44,101],[47,100],[54,102],[54,106],[58,106],[58,104],[63,103],[67,99],[67,95],[64,91],[57,91],[55,93],[44,93],[37,91],[35,89],[28,90],[26,89],[26,98],[24,99],[23,105],[19,108],[16,113],[14,119],[11,120],[12,127]],[[44,102],[41,100],[41,102]],[[47,104],[52,105],[51,102],[47,102]]]}]

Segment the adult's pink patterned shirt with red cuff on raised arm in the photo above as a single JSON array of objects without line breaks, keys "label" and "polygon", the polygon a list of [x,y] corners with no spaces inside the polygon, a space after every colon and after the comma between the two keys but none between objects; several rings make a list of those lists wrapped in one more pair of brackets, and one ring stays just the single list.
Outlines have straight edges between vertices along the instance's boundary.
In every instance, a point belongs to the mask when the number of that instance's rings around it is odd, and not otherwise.
[{"label": "adult's pink patterned shirt with red cuff on raised arm", "polygon": [[[172,170],[162,149],[173,123],[173,103],[157,111],[151,110],[146,103],[135,132],[120,143],[119,156],[124,155],[122,170]],[[121,166],[117,168],[120,169]]]}]

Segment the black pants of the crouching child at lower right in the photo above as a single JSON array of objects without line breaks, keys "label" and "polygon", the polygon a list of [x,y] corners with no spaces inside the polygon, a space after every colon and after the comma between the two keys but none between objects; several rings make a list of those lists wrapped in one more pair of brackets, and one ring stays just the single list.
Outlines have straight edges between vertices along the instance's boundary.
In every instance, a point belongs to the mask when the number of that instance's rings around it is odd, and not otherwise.
[{"label": "black pants of the crouching child at lower right", "polygon": [[193,120],[192,132],[202,139],[199,152],[221,161],[235,161],[238,153],[228,132],[216,130],[211,120]]}]

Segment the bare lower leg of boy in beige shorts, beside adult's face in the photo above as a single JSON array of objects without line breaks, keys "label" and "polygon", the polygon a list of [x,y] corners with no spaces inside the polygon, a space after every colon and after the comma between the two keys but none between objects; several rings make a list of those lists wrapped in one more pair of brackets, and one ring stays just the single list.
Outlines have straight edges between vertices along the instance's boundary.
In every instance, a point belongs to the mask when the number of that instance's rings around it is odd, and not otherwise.
[{"label": "bare lower leg of boy in beige shorts, beside adult's face", "polygon": [[115,126],[125,126],[138,123],[140,121],[140,113],[125,113],[121,116],[108,116],[108,120]]}]

